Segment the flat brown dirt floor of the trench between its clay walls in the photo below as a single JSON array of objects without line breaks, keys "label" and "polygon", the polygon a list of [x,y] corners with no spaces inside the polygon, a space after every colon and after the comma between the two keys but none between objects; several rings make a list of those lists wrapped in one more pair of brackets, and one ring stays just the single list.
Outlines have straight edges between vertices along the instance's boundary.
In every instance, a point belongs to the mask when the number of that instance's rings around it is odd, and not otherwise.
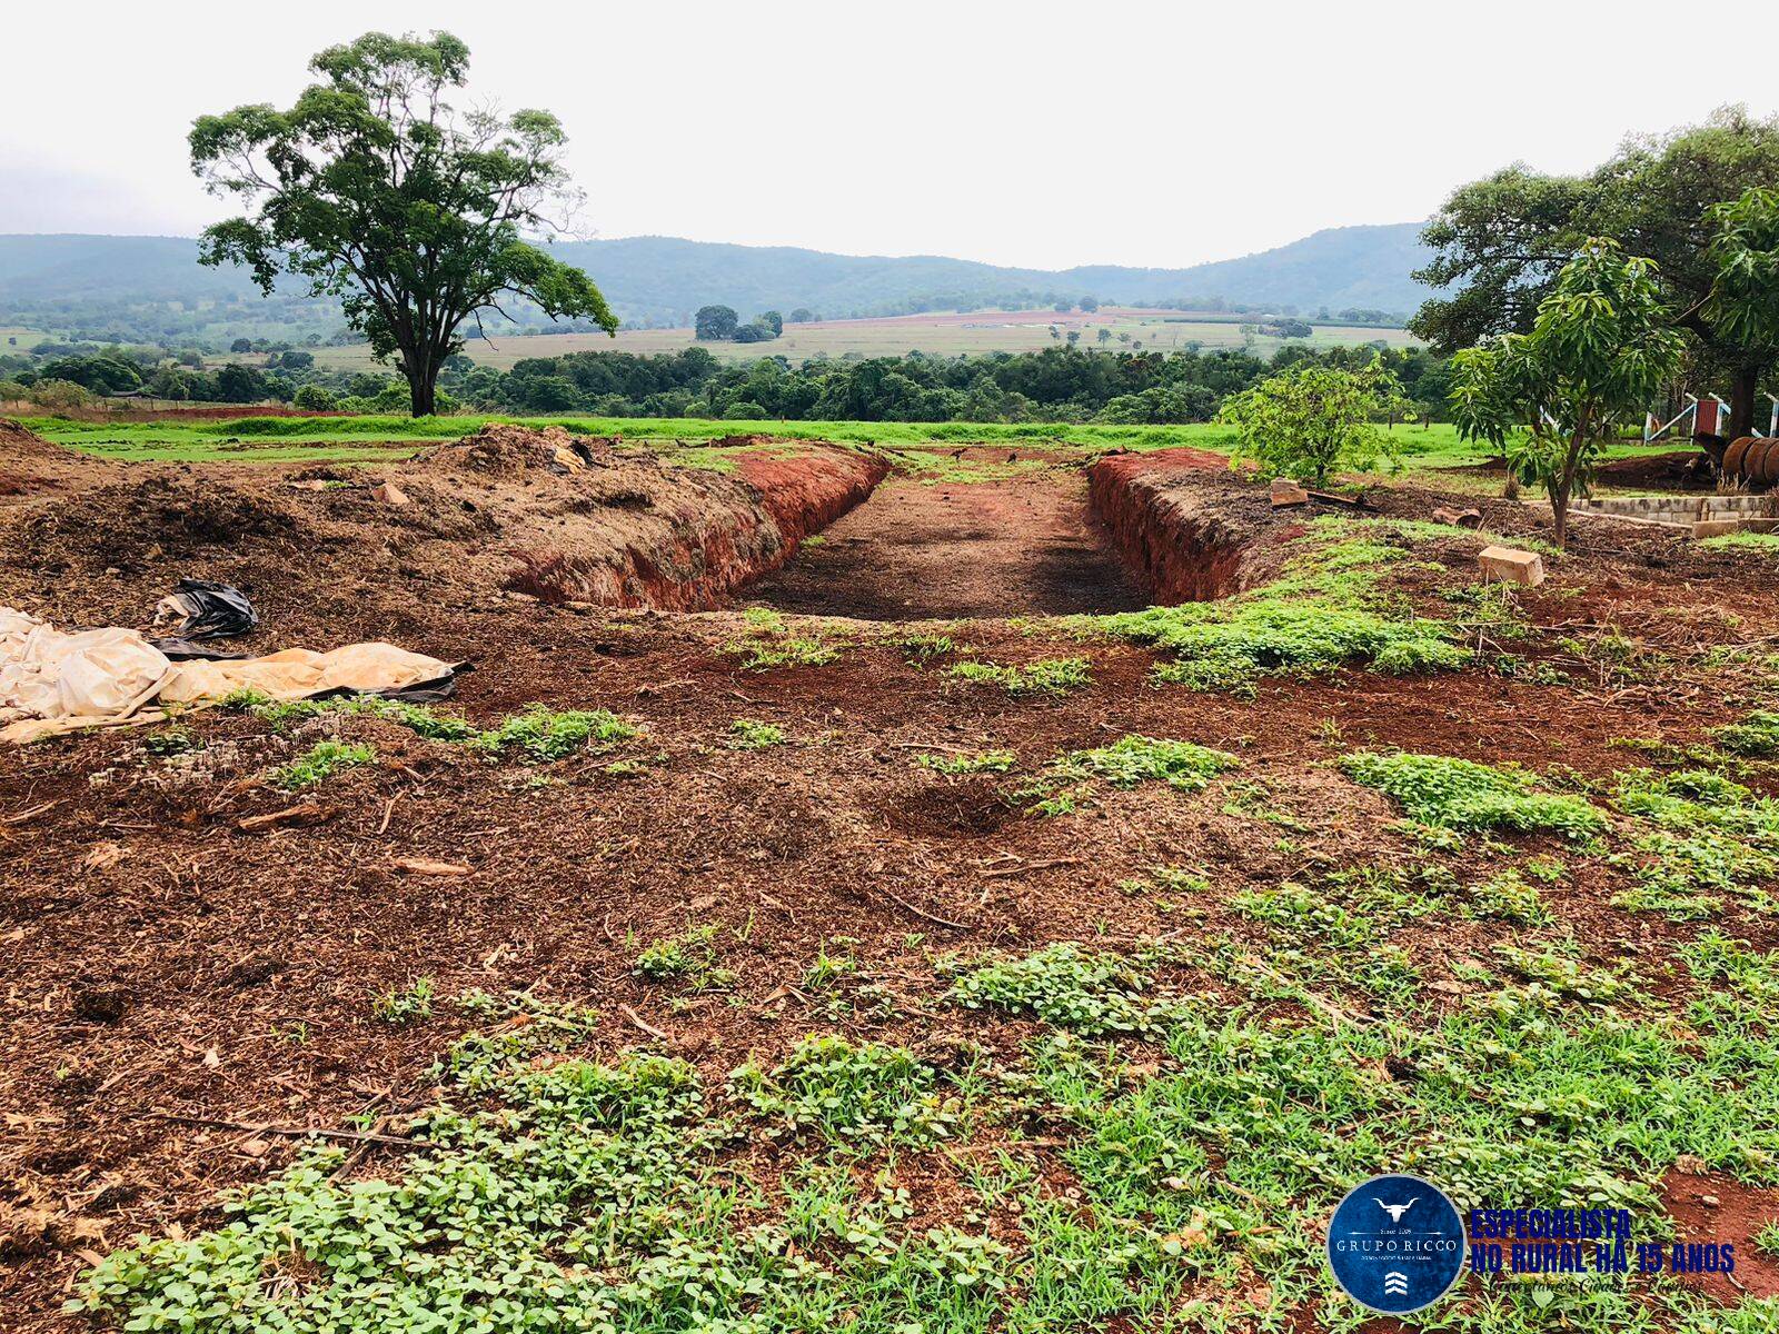
[{"label": "flat brown dirt floor of the trench between its clay walls", "polygon": [[895,478],[740,596],[783,612],[918,621],[1123,612],[1153,596],[1110,550],[1076,471]]}]

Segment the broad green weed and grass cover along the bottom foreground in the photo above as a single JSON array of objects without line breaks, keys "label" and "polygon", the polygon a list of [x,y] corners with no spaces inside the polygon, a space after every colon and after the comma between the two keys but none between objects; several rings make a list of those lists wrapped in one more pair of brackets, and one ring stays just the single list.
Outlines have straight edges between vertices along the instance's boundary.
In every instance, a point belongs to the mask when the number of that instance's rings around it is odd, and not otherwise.
[{"label": "broad green weed and grass cover along the bottom foreground", "polygon": [[[1363,879],[1384,927],[1393,880]],[[1260,907],[1284,937],[1366,936],[1313,898]],[[1647,1217],[1683,1154],[1779,1181],[1779,957],[1699,937],[1678,1010],[1560,943],[1503,959],[1526,980],[1361,1025],[1228,985],[1160,1000],[1151,955],[1050,946],[954,978],[977,987],[954,1003],[1046,1021],[1023,1055],[939,1069],[815,1033],[708,1087],[681,1060],[576,1055],[598,1033],[573,1003],[471,992],[457,1005],[484,1028],[434,1067],[441,1101],[398,1154],[310,1147],[224,1197],[221,1226],[100,1261],[69,1309],[167,1334],[1352,1329],[1322,1229],[1373,1172],[1461,1208]],[[1585,1275],[1462,1286],[1429,1318],[1767,1334],[1775,1316]]]}]

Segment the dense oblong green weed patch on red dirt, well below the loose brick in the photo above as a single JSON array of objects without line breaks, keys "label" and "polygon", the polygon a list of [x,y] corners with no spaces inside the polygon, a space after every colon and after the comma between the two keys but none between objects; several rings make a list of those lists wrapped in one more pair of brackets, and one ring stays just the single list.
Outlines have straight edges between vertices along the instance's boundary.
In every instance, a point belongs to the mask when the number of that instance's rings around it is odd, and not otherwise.
[{"label": "dense oblong green weed patch on red dirt, well below the loose brick", "polygon": [[1594,838],[1606,829],[1606,813],[1598,806],[1544,792],[1539,777],[1523,768],[1407,751],[1354,751],[1340,758],[1340,768],[1436,829],[1555,832],[1571,840]]}]

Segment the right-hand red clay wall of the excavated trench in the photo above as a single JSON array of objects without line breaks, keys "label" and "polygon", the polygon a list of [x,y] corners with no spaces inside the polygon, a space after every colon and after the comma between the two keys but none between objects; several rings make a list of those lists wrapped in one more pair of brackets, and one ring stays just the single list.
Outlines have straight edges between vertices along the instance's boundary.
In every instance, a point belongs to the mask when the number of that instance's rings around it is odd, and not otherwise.
[{"label": "right-hand red clay wall of the excavated trench", "polygon": [[1094,514],[1156,601],[1204,601],[1245,587],[1251,542],[1270,507],[1252,487],[1204,486],[1211,471],[1228,475],[1228,459],[1190,448],[1110,454],[1087,470]]}]

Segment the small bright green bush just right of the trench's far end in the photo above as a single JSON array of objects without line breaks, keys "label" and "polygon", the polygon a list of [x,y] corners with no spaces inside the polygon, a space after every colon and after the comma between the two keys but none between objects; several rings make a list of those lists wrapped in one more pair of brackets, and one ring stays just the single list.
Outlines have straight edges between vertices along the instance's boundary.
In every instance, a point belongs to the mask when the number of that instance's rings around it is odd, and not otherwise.
[{"label": "small bright green bush just right of the trench's far end", "polygon": [[1236,429],[1231,466],[1254,459],[1274,477],[1327,482],[1331,468],[1364,470],[1395,457],[1381,416],[1411,404],[1381,359],[1359,370],[1299,361],[1224,400],[1217,422]]}]

